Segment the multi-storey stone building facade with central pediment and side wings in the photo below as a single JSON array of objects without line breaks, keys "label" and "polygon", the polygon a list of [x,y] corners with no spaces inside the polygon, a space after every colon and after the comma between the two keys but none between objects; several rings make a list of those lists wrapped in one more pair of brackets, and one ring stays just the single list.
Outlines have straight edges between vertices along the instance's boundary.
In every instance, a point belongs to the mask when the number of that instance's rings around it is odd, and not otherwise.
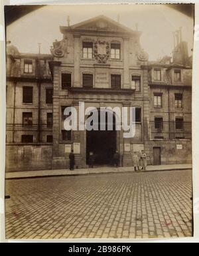
[{"label": "multi-storey stone building facade with central pediment and side wings", "polygon": [[[132,166],[133,152],[141,150],[149,164],[191,162],[186,43],[176,44],[173,60],[151,63],[141,32],[107,17],[60,32],[51,55],[23,55],[15,47],[7,52],[7,171],[68,168],[72,149],[76,168],[88,166],[90,152],[96,164],[111,165],[116,150],[121,166]],[[74,106],[79,116],[79,102],[98,110],[135,107],[135,137],[124,138],[123,130],[64,130],[64,109]]]}]

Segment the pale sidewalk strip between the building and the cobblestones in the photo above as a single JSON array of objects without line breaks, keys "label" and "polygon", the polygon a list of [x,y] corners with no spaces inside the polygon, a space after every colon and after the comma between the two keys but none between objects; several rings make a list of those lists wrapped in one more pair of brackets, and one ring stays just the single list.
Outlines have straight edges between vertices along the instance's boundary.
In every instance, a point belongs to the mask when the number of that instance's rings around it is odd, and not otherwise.
[{"label": "pale sidewalk strip between the building and the cobblestones", "polygon": [[[190,170],[192,164],[172,164],[165,166],[147,166],[145,172],[156,172],[156,171],[169,171],[169,170]],[[70,170],[44,170],[44,171],[31,171],[31,172],[7,172],[5,179],[20,179],[20,178],[38,178],[38,177],[50,177],[50,176],[74,176],[74,175],[86,175],[86,174],[111,174],[111,173],[122,173],[122,172],[134,172],[133,167],[102,167],[94,169],[78,169],[74,171]]]}]

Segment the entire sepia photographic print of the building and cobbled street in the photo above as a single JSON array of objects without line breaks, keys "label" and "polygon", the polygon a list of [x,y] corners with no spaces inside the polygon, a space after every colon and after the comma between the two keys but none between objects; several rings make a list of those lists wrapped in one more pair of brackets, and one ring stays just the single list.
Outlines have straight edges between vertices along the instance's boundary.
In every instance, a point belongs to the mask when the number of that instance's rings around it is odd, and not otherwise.
[{"label": "entire sepia photographic print of the building and cobbled street", "polygon": [[7,5],[5,239],[193,237],[194,4]]}]

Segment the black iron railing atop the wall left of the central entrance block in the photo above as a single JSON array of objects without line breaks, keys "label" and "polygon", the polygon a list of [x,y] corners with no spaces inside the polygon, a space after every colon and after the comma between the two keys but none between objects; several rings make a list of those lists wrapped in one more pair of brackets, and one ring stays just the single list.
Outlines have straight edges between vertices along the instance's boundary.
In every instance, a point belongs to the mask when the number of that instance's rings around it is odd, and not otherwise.
[{"label": "black iron railing atop the wall left of the central entrance block", "polygon": [[52,125],[7,124],[6,143],[52,143]]}]

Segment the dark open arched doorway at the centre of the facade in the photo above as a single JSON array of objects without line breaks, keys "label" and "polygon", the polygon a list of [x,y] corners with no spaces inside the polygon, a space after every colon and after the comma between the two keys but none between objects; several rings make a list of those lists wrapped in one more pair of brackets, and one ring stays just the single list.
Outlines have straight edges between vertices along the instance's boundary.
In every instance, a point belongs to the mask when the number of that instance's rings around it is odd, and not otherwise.
[{"label": "dark open arched doorway at the centre of the facade", "polygon": [[100,110],[98,110],[98,130],[86,131],[86,162],[89,164],[89,154],[94,153],[95,165],[109,166],[113,164],[113,155],[117,150],[117,132],[115,130],[115,114],[113,115],[113,130],[107,129],[107,112],[105,130],[100,130]]}]

